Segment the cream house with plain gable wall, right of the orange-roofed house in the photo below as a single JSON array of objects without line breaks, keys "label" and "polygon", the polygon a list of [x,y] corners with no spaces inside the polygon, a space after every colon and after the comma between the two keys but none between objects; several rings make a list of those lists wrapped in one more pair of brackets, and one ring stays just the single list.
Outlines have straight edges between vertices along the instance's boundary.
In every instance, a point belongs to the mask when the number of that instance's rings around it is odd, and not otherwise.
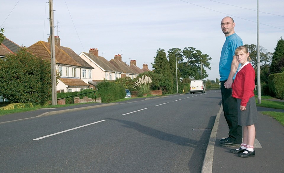
[{"label": "cream house with plain gable wall, right of the orange-roofed house", "polygon": [[[79,56],[94,68],[92,74],[93,81],[101,81],[104,79],[115,80],[120,78],[123,73],[104,57],[99,56],[99,50],[97,48],[90,48],[89,53],[82,52]],[[89,81],[89,83],[92,82]]]}]

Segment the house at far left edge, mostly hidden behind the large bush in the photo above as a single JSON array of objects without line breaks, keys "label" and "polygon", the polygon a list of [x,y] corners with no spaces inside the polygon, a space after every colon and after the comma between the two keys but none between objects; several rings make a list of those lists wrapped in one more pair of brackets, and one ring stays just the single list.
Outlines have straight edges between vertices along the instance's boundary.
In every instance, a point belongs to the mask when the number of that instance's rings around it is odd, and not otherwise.
[{"label": "house at far left edge, mostly hidden behind the large bush", "polygon": [[[12,42],[11,40],[5,37],[5,39],[0,45],[0,58],[5,59],[7,54],[14,54],[20,48],[21,46],[17,45],[16,43]],[[8,100],[6,100],[5,98],[2,98],[2,96],[0,95],[0,102],[7,102],[7,101]]]}]

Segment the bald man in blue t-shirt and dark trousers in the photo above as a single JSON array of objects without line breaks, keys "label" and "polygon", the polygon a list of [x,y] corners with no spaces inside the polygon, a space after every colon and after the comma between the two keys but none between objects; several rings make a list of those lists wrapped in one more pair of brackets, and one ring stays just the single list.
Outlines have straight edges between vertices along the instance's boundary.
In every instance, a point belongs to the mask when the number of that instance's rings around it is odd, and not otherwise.
[{"label": "bald man in blue t-shirt and dark trousers", "polygon": [[243,45],[242,39],[235,33],[235,22],[232,17],[225,17],[221,21],[221,29],[226,41],[221,51],[219,73],[222,93],[222,106],[225,119],[229,126],[229,137],[221,139],[221,146],[241,146],[242,127],[238,125],[237,100],[232,97],[232,84],[238,70],[239,63],[235,57],[235,49]]}]

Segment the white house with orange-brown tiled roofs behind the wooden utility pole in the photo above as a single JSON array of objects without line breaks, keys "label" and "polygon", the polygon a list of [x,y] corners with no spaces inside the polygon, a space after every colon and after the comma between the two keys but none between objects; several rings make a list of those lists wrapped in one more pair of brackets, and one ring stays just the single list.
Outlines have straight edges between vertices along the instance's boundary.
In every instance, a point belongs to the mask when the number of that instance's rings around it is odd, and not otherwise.
[{"label": "white house with orange-brown tiled roofs behind the wooden utility pole", "polygon": [[[51,61],[50,36],[48,42],[38,41],[28,47],[34,55]],[[60,74],[57,92],[74,92],[89,88],[93,67],[80,59],[70,48],[60,45],[59,36],[55,36],[55,66]]]}]

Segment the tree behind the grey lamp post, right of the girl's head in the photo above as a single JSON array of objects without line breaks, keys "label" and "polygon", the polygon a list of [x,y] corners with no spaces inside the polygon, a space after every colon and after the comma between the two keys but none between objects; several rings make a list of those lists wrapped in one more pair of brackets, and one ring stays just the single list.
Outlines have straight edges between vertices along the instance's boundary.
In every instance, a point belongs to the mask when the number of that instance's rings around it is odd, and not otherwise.
[{"label": "tree behind the grey lamp post, right of the girl's head", "polygon": [[[256,69],[257,67],[257,46],[254,44],[251,45],[244,45],[248,48],[249,50],[249,57],[251,58],[251,65]],[[267,50],[263,47],[259,47],[259,61],[260,61],[260,66],[265,65],[265,64],[270,64],[272,60],[272,53],[267,52]]]}]

